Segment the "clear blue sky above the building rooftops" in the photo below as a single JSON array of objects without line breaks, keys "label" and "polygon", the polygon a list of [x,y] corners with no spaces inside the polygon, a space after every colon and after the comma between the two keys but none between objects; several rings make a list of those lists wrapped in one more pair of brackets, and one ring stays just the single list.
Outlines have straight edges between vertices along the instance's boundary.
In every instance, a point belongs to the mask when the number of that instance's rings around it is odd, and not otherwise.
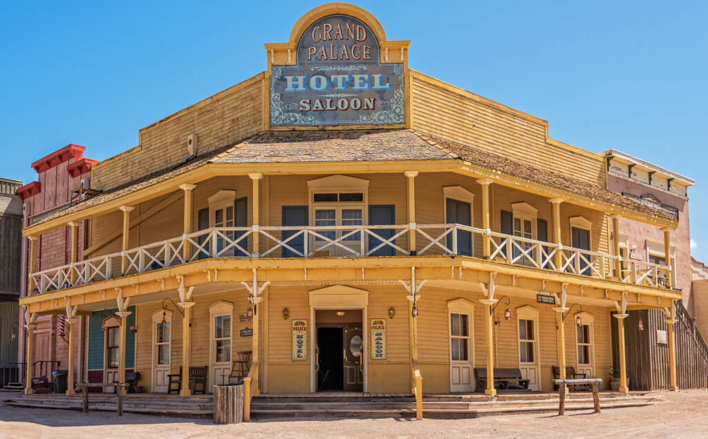
[{"label": "clear blue sky above the building rooftops", "polygon": [[[313,1],[0,1],[0,176],[69,143],[103,160],[265,69]],[[549,121],[554,139],[696,180],[708,262],[708,1],[358,1],[409,66]]]}]

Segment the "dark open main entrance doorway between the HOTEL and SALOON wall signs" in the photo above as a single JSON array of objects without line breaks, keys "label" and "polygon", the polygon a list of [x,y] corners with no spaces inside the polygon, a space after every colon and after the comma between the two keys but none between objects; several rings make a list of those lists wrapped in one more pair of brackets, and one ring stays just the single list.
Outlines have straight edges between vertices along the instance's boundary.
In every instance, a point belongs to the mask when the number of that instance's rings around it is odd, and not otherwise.
[{"label": "dark open main entrance doorway between the HOTEL and SALOON wall signs", "polygon": [[361,310],[317,310],[316,376],[318,392],[362,392],[364,340]]}]

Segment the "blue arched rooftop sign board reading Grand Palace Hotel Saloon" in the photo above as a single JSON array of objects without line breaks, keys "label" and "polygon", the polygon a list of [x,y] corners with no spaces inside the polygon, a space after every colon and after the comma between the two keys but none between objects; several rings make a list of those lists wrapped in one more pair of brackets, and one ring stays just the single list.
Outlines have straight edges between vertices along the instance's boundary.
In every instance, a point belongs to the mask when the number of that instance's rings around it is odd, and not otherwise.
[{"label": "blue arched rooftop sign board reading Grand Palace Hotel Saloon", "polygon": [[270,127],[402,125],[404,64],[382,63],[358,18],[326,16],[297,42],[295,63],[270,69]]}]

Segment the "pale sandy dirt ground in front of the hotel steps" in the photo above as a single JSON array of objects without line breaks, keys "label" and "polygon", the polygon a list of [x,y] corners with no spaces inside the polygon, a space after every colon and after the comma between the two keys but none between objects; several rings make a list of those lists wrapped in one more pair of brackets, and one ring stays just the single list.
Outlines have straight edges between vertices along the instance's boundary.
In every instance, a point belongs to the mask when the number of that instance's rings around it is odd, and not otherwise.
[{"label": "pale sandy dirt ground in front of the hotel steps", "polygon": [[[6,399],[0,392],[0,400]],[[1,438],[708,438],[708,390],[658,394],[661,404],[556,414],[413,421],[398,418],[269,419],[231,426],[115,413],[21,409],[0,404]]]}]

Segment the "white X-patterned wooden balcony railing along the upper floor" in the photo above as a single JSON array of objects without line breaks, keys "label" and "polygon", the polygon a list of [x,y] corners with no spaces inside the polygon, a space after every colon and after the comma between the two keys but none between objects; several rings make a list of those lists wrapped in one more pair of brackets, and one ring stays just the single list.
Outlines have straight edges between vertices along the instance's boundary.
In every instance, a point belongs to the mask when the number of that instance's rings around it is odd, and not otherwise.
[{"label": "white X-patterned wooden balcony railing along the upper floor", "polygon": [[[35,293],[45,293],[207,258],[409,256],[411,230],[416,235],[416,255],[481,257],[482,242],[488,237],[489,259],[507,264],[610,279],[619,262],[622,272],[615,279],[642,286],[665,286],[671,270],[663,265],[460,224],[253,226],[208,228],[125,252],[38,271],[30,274],[30,278],[35,284]],[[256,234],[258,254],[253,252]],[[121,269],[123,258],[125,271]],[[558,259],[560,264],[556,264]]]}]

